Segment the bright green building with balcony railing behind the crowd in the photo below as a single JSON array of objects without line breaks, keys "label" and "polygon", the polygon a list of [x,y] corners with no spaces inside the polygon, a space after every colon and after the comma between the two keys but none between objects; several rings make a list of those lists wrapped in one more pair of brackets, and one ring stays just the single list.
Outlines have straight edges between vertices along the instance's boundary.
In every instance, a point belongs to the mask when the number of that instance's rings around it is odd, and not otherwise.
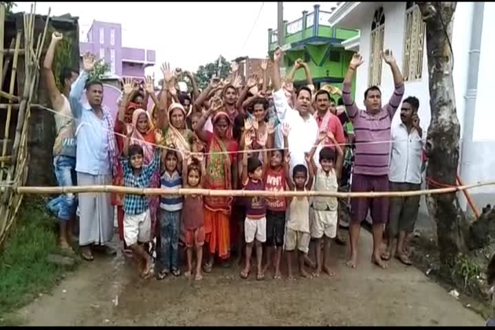
[{"label": "bright green building with balcony railing behind the crowd", "polygon": [[[285,74],[289,73],[298,58],[302,58],[309,65],[316,89],[327,84],[342,89],[342,81],[354,54],[345,50],[342,42],[359,35],[358,30],[330,27],[330,16],[331,12],[321,11],[320,5],[314,5],[314,12],[304,11],[300,19],[284,22],[285,44],[291,45],[284,56]],[[269,29],[268,52],[271,57],[277,45],[277,31]],[[294,86],[304,85],[305,81],[304,70],[298,69],[294,76]],[[354,92],[353,87],[353,96]]]}]

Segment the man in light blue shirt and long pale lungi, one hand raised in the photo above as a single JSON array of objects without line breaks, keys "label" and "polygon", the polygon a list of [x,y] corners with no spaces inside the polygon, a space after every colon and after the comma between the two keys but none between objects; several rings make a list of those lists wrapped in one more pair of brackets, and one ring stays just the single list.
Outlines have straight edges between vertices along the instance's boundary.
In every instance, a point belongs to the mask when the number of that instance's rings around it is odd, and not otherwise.
[{"label": "man in light blue shirt and long pale lungi, one hand raised", "polygon": [[[112,175],[117,173],[118,154],[113,134],[114,123],[110,111],[102,106],[103,84],[99,80],[88,81],[88,74],[94,64],[93,55],[83,56],[83,70],[69,94],[72,114],[78,121],[78,186],[111,185]],[[85,89],[87,104],[81,102]],[[79,194],[79,210],[79,245],[83,259],[93,261],[91,248],[115,254],[115,250],[105,245],[113,236],[113,206],[110,203],[110,194]]]}]

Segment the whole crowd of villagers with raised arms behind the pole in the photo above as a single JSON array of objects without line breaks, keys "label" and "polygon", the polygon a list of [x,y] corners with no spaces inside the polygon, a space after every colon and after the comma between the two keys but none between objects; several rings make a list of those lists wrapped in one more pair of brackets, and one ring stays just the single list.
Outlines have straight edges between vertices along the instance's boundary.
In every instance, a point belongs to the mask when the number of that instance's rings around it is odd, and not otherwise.
[{"label": "whole crowd of villagers with raised arms behind the pole", "polygon": [[[359,54],[349,63],[342,91],[331,85],[316,91],[303,61],[296,61],[289,75],[281,78],[278,48],[273,72],[267,72],[264,61],[263,76],[252,75],[245,83],[235,63],[228,78],[212,78],[202,91],[194,74],[172,70],[168,64],[162,65],[158,94],[151,77],[142,84],[125,79],[118,115],[113,118],[102,105],[102,83],[88,80],[95,65],[93,55],[83,56],[80,72],[63,69],[59,77],[63,88],[57,89],[52,61],[62,38],[54,32],[43,65],[57,112],[53,153],[58,184],[113,184],[164,192],[161,196],[87,192],[52,199],[48,208],[57,214],[60,245],[67,250],[72,250],[69,223],[78,206],[78,244],[86,261],[94,260],[98,251],[115,254],[107,244],[116,211],[122,251],[135,259],[144,278],[153,273],[159,280],[169,274],[180,276],[181,247],[186,250],[185,275],[196,280],[211,272],[215,262],[230,265],[233,252],[239,263],[244,261],[241,278],[248,278],[252,268],[257,280],[272,268],[274,278],[281,278],[283,254],[287,278],[294,278],[294,254],[300,276],[322,272],[333,276],[331,242],[346,244],[338,235],[336,197],[203,197],[166,191],[184,187],[337,192],[350,181],[355,192],[419,189],[419,101],[408,97],[401,103],[404,82],[389,50],[383,52],[383,59],[391,68],[395,90],[384,106],[375,86],[364,93],[364,110],[351,97],[353,76],[363,63]],[[292,78],[299,68],[305,69],[307,82],[295,89]],[[192,91],[180,90],[179,77],[190,80]],[[154,104],[151,111],[146,111],[148,98]],[[401,122],[394,126],[400,105]],[[344,166],[351,146],[353,173]],[[419,197],[351,199],[347,265],[357,265],[360,225],[369,211],[372,262],[386,268],[394,254],[410,265],[407,236],[414,229],[418,208]],[[384,251],[382,236],[388,242]],[[309,258],[310,248],[314,260]],[[251,265],[253,252],[256,267]]]}]

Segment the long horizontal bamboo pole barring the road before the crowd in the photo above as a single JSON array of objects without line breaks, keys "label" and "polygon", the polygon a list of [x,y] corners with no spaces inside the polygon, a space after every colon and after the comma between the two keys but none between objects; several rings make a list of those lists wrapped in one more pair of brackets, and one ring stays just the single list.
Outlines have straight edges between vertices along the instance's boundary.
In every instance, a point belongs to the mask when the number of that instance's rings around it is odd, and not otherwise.
[{"label": "long horizontal bamboo pole barring the road before the crowd", "polygon": [[[191,189],[179,188],[175,190],[164,190],[161,188],[130,188],[122,186],[65,186],[65,187],[35,187],[23,186],[12,188],[19,194],[33,195],[51,195],[51,194],[67,194],[67,193],[85,193],[85,192],[115,192],[120,194],[132,195],[203,195],[215,197],[410,197],[421,195],[437,195],[472,188],[480,188],[483,186],[495,186],[495,181],[471,184],[467,186],[456,186],[439,189],[426,189],[414,191],[382,191],[382,192],[329,192],[329,191],[265,191],[265,190],[210,190],[210,189]],[[1,188],[3,189],[3,188]]]}]

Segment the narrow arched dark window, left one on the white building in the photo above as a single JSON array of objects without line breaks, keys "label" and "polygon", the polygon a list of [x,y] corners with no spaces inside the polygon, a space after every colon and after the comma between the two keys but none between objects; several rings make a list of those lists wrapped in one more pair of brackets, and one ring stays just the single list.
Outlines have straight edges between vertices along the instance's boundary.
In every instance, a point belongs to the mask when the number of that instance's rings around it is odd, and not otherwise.
[{"label": "narrow arched dark window, left one on the white building", "polygon": [[371,23],[371,52],[369,61],[368,85],[380,86],[382,83],[382,50],[385,35],[385,14],[383,7],[373,14]]}]

